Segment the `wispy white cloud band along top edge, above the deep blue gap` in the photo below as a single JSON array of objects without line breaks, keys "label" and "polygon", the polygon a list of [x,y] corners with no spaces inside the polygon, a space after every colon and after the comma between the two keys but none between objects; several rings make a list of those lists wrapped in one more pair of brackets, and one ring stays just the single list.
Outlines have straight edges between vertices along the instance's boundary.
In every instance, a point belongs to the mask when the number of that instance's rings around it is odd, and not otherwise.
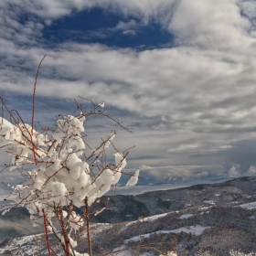
[{"label": "wispy white cloud band along top edge, above the deep blue gap", "polygon": [[7,3],[2,3],[2,6],[5,8],[6,6],[22,8],[23,11],[40,16],[50,24],[50,20],[62,16],[70,16],[73,11],[91,9],[95,6],[111,10],[112,12],[122,12],[124,16],[132,14],[133,16],[148,19],[152,16],[158,16],[160,12],[163,17],[163,13],[167,13],[166,9],[171,7],[175,2],[175,0],[45,0],[36,2],[29,0],[9,0]]}]

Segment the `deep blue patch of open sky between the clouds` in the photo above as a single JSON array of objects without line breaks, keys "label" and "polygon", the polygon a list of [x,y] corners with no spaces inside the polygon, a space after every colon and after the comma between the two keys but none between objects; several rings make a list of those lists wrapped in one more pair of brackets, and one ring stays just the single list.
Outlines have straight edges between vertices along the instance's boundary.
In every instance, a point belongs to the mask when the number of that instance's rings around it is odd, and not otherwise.
[{"label": "deep blue patch of open sky between the clouds", "polygon": [[100,43],[108,47],[133,48],[138,51],[164,48],[173,41],[173,35],[162,29],[157,22],[150,21],[145,25],[136,16],[123,16],[100,7],[54,21],[51,26],[45,27],[43,37],[48,46],[69,41]]}]

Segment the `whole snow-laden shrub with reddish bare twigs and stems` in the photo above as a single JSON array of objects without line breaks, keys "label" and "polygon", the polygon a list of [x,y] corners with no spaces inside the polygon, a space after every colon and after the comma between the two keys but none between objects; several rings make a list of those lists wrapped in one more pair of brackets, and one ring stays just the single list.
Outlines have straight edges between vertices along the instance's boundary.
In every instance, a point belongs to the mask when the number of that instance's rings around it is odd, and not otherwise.
[{"label": "whole snow-laden shrub with reddish bare twigs and stems", "polygon": [[[72,239],[72,233],[86,229],[88,243],[91,242],[90,208],[97,198],[117,185],[128,153],[117,151],[114,163],[107,163],[106,149],[112,145],[116,133],[99,139],[98,146],[91,148],[85,140],[84,123],[91,115],[112,118],[105,114],[104,108],[101,109],[102,104],[93,104],[91,112],[84,112],[78,105],[79,114],[59,115],[54,128],[36,131],[33,123],[31,126],[22,122],[19,115],[16,118],[7,108],[3,99],[2,103],[11,121],[0,118],[0,146],[5,147],[6,154],[12,157],[11,164],[5,164],[5,168],[17,168],[21,176],[26,177],[8,197],[12,202],[4,214],[11,208],[23,206],[29,211],[34,225],[45,226],[55,234],[66,255],[88,255],[74,251],[77,241]],[[127,185],[133,186],[137,180],[138,171]],[[83,215],[75,211],[80,207],[84,207]],[[96,214],[99,213],[98,209]],[[58,223],[60,232],[56,228]]]}]

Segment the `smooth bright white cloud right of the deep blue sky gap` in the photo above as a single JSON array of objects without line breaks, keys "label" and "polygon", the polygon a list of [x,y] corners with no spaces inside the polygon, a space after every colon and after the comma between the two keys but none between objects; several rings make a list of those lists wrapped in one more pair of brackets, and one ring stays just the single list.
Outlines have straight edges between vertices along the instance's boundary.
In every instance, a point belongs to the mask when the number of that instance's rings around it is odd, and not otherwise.
[{"label": "smooth bright white cloud right of the deep blue sky gap", "polygon": [[[236,0],[180,1],[169,29],[181,44],[200,48],[240,49],[250,42],[251,22],[240,16]],[[252,42],[252,41],[251,41]]]}]

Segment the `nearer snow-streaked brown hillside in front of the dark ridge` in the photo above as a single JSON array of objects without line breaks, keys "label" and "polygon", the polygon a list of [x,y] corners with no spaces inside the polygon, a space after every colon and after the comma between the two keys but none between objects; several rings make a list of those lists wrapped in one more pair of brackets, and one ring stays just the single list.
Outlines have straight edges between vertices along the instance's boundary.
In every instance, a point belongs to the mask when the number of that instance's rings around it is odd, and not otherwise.
[{"label": "nearer snow-streaked brown hillside in front of the dark ridge", "polygon": [[[161,248],[164,251],[176,243],[178,256],[213,255],[198,254],[199,251],[208,251],[219,256],[232,255],[229,253],[231,250],[250,253],[256,251],[256,223],[255,219],[251,218],[255,213],[255,209],[240,207],[191,208],[132,222],[96,224],[91,227],[92,247],[94,255],[134,246],[141,246],[139,254],[134,255],[159,255],[154,251],[144,254],[149,251],[144,250],[144,245],[155,244],[155,247],[159,248],[159,243],[162,243]],[[84,232],[80,230],[80,240],[83,240],[84,236]],[[41,242],[42,238],[43,234],[39,234],[5,240],[0,245],[0,253],[37,255],[39,252],[39,255],[48,255],[45,245]],[[59,251],[59,244],[53,238],[51,244]],[[84,247],[86,248],[86,245],[82,242],[77,251],[82,251]],[[133,255],[133,251],[130,253],[132,254],[120,255]],[[59,252],[58,255],[62,254]]]}]

